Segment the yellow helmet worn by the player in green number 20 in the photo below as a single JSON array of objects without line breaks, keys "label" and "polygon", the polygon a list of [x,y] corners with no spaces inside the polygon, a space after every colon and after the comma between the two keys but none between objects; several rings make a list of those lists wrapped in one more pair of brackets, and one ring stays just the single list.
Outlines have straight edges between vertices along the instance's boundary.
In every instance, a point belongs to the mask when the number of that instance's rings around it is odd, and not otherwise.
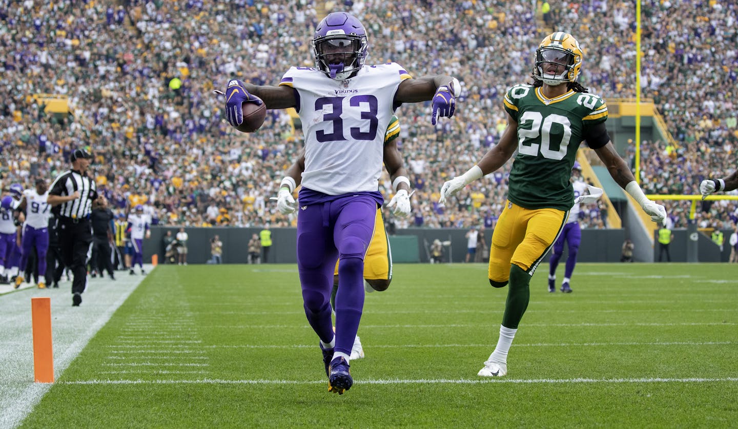
[{"label": "yellow helmet worn by the player in green number 20", "polygon": [[[545,72],[545,64],[565,66],[561,74]],[[573,35],[568,32],[552,32],[547,35],[536,49],[536,66],[533,77],[543,83],[556,86],[562,82],[574,82],[582,70],[582,48]]]}]

